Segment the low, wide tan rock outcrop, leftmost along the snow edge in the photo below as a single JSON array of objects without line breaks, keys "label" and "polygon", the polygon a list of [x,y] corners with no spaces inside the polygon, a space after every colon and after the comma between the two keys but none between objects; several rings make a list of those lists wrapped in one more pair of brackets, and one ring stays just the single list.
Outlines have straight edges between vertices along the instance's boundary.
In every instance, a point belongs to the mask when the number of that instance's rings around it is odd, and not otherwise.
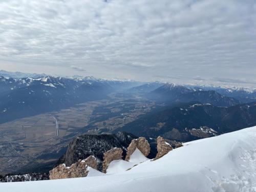
[{"label": "low, wide tan rock outcrop, leftmost along the snow edge", "polygon": [[72,164],[70,167],[67,167],[65,164],[60,164],[50,170],[49,178],[53,180],[86,177],[89,173],[88,166],[97,168],[97,161],[94,156],[89,156],[85,160],[79,160],[77,163]]}]

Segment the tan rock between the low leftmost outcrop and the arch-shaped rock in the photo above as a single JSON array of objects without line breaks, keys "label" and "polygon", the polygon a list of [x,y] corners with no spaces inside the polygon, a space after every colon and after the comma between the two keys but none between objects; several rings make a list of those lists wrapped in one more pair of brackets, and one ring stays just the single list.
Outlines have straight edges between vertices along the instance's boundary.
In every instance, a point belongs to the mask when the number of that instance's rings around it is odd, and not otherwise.
[{"label": "tan rock between the low leftmost outcrop and the arch-shaped rock", "polygon": [[111,161],[122,159],[122,153],[123,150],[117,147],[105,152],[103,157],[102,172],[106,173],[106,169],[108,168]]}]

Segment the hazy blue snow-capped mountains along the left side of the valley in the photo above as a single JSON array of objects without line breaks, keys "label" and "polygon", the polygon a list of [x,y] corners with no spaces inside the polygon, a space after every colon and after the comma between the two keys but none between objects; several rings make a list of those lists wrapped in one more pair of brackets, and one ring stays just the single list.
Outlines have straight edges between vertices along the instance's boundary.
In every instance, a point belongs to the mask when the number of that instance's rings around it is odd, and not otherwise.
[{"label": "hazy blue snow-capped mountains along the left side of the valley", "polygon": [[106,98],[113,88],[106,82],[50,77],[0,77],[0,123]]}]

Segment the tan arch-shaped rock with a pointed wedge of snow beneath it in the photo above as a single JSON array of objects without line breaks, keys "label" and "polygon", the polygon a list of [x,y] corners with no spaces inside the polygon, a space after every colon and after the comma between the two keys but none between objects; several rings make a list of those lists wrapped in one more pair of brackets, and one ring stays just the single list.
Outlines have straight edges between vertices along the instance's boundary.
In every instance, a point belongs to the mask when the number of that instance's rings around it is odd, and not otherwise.
[{"label": "tan arch-shaped rock with a pointed wedge of snow beneath it", "polygon": [[145,137],[139,137],[138,139],[133,139],[127,148],[127,154],[125,161],[129,161],[133,152],[138,148],[138,150],[147,157],[150,154],[150,143],[145,139]]}]

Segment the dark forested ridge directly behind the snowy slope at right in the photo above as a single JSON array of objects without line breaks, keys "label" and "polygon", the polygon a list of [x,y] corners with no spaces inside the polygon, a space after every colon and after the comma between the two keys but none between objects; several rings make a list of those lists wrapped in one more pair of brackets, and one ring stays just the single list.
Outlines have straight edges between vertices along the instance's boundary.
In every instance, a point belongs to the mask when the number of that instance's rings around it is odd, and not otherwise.
[{"label": "dark forested ridge directly behind the snowy slope at right", "polygon": [[256,125],[256,102],[230,107],[188,104],[152,111],[117,131],[138,136],[190,141],[237,131]]}]

